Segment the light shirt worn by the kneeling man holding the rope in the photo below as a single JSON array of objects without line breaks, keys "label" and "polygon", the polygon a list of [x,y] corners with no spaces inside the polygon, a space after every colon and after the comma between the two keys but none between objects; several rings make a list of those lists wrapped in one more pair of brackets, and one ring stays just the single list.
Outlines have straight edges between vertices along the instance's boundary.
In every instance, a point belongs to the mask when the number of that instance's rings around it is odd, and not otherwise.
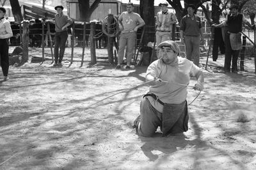
[{"label": "light shirt worn by the kneeling man holding the rope", "polygon": [[[168,83],[150,86],[149,91],[155,94],[163,103],[180,104],[186,100],[190,76],[197,76],[200,68],[188,59],[178,57],[178,67],[164,64],[163,60],[158,59],[148,66],[146,77],[151,76],[161,78]],[[155,99],[147,96],[152,106],[163,113],[163,105]]]}]

